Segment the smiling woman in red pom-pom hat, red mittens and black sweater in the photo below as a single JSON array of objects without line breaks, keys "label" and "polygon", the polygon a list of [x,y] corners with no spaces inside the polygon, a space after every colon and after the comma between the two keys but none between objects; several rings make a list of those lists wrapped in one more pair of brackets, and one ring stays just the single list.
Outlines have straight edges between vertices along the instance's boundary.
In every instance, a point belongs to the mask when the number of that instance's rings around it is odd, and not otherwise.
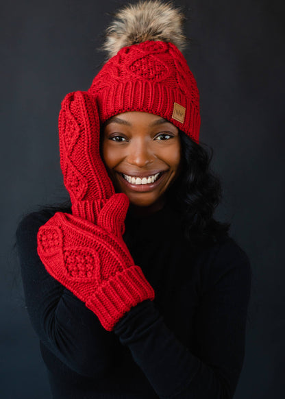
[{"label": "smiling woman in red pom-pom hat, red mittens and black sweater", "polygon": [[53,398],[234,396],[251,271],[212,217],[220,186],[199,145],[182,20],[159,1],[116,14],[110,59],[62,101],[71,207],[18,227]]}]

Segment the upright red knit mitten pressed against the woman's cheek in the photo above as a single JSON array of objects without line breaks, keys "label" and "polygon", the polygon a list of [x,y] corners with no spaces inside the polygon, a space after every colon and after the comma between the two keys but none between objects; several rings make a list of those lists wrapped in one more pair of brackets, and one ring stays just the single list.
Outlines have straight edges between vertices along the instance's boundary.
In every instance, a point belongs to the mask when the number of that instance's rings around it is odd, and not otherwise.
[{"label": "upright red knit mitten pressed against the woman's cheek", "polygon": [[76,91],[62,100],[59,117],[60,166],[72,213],[96,223],[114,193],[99,152],[100,123],[95,99]]}]

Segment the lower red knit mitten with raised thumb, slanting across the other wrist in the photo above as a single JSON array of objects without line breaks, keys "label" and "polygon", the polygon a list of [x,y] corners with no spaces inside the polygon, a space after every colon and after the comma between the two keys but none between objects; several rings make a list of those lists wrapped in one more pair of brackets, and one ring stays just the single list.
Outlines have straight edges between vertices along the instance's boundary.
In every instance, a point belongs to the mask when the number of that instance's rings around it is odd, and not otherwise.
[{"label": "lower red knit mitten with raised thumb, slanting across the other wrist", "polygon": [[132,306],[154,298],[121,235],[127,206],[125,194],[114,194],[97,225],[55,213],[38,231],[38,255],[49,274],[85,302],[108,331]]}]

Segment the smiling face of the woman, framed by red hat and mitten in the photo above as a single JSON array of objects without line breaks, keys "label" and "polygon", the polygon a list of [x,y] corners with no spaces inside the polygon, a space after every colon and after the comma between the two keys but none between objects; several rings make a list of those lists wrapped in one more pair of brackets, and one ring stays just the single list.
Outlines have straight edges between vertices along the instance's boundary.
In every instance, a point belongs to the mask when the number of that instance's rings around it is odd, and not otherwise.
[{"label": "smiling face of the woman, framed by red hat and mitten", "polygon": [[103,160],[116,191],[133,206],[159,209],[179,173],[179,130],[147,112],[124,112],[103,128]]}]

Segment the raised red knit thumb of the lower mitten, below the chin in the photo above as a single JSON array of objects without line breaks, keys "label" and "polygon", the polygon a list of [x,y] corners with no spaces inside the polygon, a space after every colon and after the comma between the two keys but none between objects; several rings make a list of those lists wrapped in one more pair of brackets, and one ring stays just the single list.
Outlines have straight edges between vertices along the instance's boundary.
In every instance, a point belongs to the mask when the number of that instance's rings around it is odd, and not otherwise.
[{"label": "raised red knit thumb of the lower mitten, below the chin", "polygon": [[129,207],[129,198],[124,193],[112,195],[99,213],[98,226],[119,237],[125,232],[125,217]]}]

